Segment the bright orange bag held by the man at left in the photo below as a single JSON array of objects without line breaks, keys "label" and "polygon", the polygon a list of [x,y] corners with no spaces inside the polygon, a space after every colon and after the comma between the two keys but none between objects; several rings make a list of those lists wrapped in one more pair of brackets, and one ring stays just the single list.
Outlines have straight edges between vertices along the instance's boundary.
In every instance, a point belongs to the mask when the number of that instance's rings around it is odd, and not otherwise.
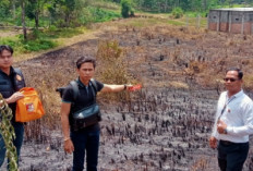
[{"label": "bright orange bag held by the man at left", "polygon": [[24,87],[20,90],[24,98],[16,101],[16,122],[28,122],[40,119],[44,114],[44,108],[38,93],[32,87]]}]

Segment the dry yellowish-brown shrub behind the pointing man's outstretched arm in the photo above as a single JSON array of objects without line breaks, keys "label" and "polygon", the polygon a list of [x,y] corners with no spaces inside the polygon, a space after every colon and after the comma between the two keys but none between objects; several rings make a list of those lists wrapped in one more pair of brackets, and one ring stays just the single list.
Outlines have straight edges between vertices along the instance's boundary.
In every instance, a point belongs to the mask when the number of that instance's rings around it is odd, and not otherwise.
[{"label": "dry yellowish-brown shrub behind the pointing man's outstretched arm", "polygon": [[[100,63],[96,72],[97,77],[106,84],[133,83],[134,80],[128,74],[128,62],[123,54],[123,49],[120,48],[117,40],[99,41],[96,54],[96,59]],[[126,100],[129,98],[125,91],[103,94],[100,97],[108,101]]]}]

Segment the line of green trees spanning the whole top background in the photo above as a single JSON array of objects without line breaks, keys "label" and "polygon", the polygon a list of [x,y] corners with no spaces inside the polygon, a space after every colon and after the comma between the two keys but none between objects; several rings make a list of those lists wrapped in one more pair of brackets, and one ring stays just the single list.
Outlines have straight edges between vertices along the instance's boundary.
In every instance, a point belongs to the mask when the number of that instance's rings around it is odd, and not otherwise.
[{"label": "line of green trees spanning the whole top background", "polygon": [[[100,7],[94,8],[92,4],[95,2],[117,4],[119,8],[108,11]],[[128,17],[134,15],[134,10],[169,13],[180,8],[184,12],[205,12],[217,7],[251,3],[253,0],[0,0],[0,24],[5,21],[22,25],[26,39],[27,25],[36,29],[45,25],[80,26],[105,17],[121,16],[120,12],[116,12],[120,7],[121,14]]]}]

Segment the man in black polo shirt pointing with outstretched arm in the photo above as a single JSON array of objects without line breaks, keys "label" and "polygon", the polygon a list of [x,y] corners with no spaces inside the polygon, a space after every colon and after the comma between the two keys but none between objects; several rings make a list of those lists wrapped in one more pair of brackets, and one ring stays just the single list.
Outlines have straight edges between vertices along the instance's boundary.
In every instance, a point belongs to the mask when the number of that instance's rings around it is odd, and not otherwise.
[{"label": "man in black polo shirt pointing with outstretched arm", "polygon": [[[97,171],[98,148],[99,148],[99,124],[94,123],[84,129],[75,131],[71,124],[71,114],[92,106],[96,102],[93,95],[92,77],[95,73],[95,59],[81,57],[76,62],[76,72],[79,74],[77,86],[80,96],[74,97],[74,90],[71,85],[67,87],[62,95],[61,103],[61,123],[64,136],[64,150],[68,154],[73,152],[72,171],[82,171],[84,169],[84,157],[86,152],[86,170]],[[130,90],[132,85],[108,85],[95,81],[96,91],[121,91]]]}]

